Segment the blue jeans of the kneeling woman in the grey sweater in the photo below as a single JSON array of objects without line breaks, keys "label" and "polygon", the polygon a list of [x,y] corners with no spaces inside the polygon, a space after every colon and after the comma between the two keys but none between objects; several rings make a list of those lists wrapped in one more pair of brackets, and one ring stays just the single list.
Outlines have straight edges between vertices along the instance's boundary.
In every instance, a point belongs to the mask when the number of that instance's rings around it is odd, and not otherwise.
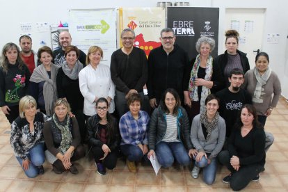
[{"label": "blue jeans of the kneeling woman in the grey sweater", "polygon": [[206,184],[211,185],[215,182],[217,170],[216,158],[211,159],[211,163],[208,164],[208,159],[203,156],[199,162],[195,161],[195,166],[197,166],[198,168],[203,168],[203,181]]}]

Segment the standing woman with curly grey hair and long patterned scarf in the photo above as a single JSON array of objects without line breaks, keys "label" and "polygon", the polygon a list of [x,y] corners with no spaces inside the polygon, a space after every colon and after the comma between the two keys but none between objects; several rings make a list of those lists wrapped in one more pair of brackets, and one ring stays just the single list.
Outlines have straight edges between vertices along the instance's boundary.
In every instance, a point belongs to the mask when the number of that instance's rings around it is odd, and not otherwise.
[{"label": "standing woman with curly grey hair and long patterned scarf", "polygon": [[215,65],[211,51],[215,48],[215,40],[205,36],[196,42],[198,56],[193,58],[189,68],[185,70],[184,104],[190,124],[199,113],[205,110],[205,99],[211,93],[221,90],[223,77],[218,65]]}]

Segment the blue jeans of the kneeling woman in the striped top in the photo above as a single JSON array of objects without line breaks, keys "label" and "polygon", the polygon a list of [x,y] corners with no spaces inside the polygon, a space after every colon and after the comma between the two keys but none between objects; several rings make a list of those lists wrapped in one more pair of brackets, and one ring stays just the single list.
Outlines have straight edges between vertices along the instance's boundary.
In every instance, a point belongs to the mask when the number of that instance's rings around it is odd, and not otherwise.
[{"label": "blue jeans of the kneeling woman in the striped top", "polygon": [[182,166],[188,166],[191,162],[188,152],[181,142],[161,141],[156,145],[155,153],[159,163],[164,168],[172,166],[174,158]]}]

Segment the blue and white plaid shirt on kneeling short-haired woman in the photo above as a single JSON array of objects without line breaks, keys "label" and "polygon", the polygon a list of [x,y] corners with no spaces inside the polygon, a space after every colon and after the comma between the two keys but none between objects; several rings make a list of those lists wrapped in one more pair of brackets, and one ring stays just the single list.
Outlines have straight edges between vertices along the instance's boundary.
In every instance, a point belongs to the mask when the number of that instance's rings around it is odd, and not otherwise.
[{"label": "blue and white plaid shirt on kneeling short-haired woman", "polygon": [[139,111],[139,118],[135,120],[128,111],[120,118],[119,129],[122,136],[120,145],[148,144],[149,115],[145,111]]}]

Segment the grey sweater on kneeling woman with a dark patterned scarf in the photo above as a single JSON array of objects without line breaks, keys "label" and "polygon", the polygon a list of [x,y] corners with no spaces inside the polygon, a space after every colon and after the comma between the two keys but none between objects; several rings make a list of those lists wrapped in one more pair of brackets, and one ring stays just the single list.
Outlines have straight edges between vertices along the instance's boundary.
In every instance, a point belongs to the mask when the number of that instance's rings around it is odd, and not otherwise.
[{"label": "grey sweater on kneeling woman with a dark patterned scarf", "polygon": [[211,132],[211,136],[206,141],[202,131],[202,125],[200,122],[200,114],[193,118],[191,126],[191,141],[198,152],[209,153],[209,159],[217,157],[217,154],[221,152],[225,141],[226,125],[225,120],[219,117],[218,126]]}]

